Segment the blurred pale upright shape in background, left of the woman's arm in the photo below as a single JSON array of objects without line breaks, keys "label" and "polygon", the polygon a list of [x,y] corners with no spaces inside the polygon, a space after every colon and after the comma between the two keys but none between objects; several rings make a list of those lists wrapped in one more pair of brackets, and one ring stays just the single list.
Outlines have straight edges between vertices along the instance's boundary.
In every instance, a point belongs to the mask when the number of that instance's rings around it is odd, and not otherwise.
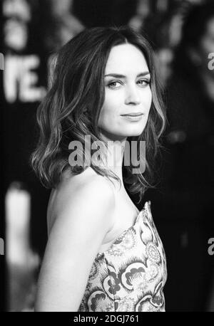
[{"label": "blurred pale upright shape in background, left of the woman's arm", "polygon": [[5,196],[7,310],[33,311],[39,255],[29,237],[31,196],[25,184],[12,182]]}]

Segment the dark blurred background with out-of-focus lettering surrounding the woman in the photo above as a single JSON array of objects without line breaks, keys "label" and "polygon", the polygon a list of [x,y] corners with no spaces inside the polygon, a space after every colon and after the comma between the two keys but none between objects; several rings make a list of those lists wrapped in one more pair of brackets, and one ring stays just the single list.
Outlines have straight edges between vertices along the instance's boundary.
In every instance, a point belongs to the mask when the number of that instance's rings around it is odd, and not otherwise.
[{"label": "dark blurred background with out-of-focus lettering surrounding the woman", "polygon": [[[1,310],[32,311],[50,190],[36,179],[36,109],[51,58],[92,26],[128,25],[157,54],[168,125],[156,189],[146,193],[168,263],[167,311],[214,311],[214,1],[2,0],[4,70]],[[1,58],[2,59],[2,58]],[[1,60],[2,64],[2,60]],[[2,68],[2,67],[1,67]],[[136,201],[135,196],[132,196]],[[1,261],[3,255],[1,253]],[[4,282],[3,282],[4,280]]]}]

